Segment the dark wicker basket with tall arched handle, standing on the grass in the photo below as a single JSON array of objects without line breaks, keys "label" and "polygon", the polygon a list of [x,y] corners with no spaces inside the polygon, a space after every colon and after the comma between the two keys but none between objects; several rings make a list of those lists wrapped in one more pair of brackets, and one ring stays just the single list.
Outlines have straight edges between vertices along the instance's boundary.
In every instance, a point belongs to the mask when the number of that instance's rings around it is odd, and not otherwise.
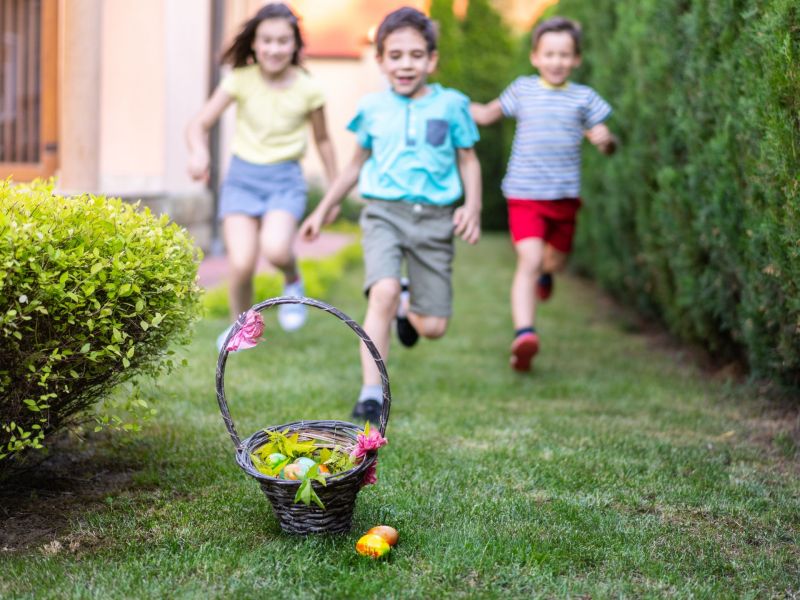
[{"label": "dark wicker basket with tall arched handle, standing on the grass", "polygon": [[[306,304],[324,310],[325,312],[344,321],[350,329],[356,332],[364,342],[381,375],[381,387],[383,389],[383,410],[380,417],[381,435],[386,433],[386,423],[389,420],[389,408],[391,406],[391,394],[389,391],[389,376],[383,364],[378,349],[366,334],[366,332],[356,323],[338,309],[314,300],[312,298],[281,296],[270,298],[253,306],[252,310],[262,312],[271,306],[279,304]],[[228,351],[225,348],[231,337],[242,328],[244,315],[234,324],[228,334],[223,350],[220,352],[217,361],[217,401],[219,402],[220,412],[228,428],[231,439],[236,446],[236,462],[244,471],[254,477],[261,485],[261,489],[266,494],[275,515],[278,517],[281,529],[290,533],[336,533],[350,530],[355,508],[356,495],[363,485],[366,470],[377,459],[375,451],[369,452],[364,460],[354,469],[338,473],[327,478],[327,485],[323,486],[312,483],[314,491],[322,500],[325,509],[311,504],[295,503],[294,497],[300,486],[299,481],[291,481],[269,477],[259,472],[253,465],[251,454],[264,445],[269,437],[262,429],[251,435],[245,440],[240,440],[236,432],[236,426],[228,411],[228,402],[225,400],[225,363],[228,360]],[[357,435],[362,428],[347,421],[295,421],[284,425],[274,425],[266,427],[269,431],[284,431],[288,429],[290,434],[299,433],[300,439],[316,438],[315,434],[322,434],[325,439],[333,440],[333,443],[340,446],[350,446],[356,441]]]}]

